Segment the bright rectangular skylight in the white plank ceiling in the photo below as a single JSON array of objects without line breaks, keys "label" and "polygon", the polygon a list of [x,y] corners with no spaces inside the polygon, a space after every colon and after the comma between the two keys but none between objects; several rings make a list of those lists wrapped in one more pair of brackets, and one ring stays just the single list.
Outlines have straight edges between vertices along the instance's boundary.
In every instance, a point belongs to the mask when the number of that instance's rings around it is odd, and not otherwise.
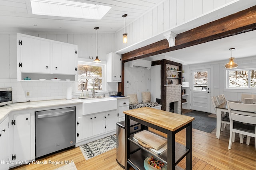
[{"label": "bright rectangular skylight in the white plank ceiling", "polygon": [[30,0],[30,2],[32,14],[46,16],[100,20],[111,9],[110,6],[86,4],[70,0]]}]

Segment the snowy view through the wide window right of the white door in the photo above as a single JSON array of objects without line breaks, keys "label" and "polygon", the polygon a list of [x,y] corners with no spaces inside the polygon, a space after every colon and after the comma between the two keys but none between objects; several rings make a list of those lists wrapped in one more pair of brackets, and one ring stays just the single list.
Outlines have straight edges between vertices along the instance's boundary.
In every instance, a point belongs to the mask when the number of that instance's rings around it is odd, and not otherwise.
[{"label": "snowy view through the wide window right of the white door", "polygon": [[256,70],[228,71],[229,88],[256,88]]}]

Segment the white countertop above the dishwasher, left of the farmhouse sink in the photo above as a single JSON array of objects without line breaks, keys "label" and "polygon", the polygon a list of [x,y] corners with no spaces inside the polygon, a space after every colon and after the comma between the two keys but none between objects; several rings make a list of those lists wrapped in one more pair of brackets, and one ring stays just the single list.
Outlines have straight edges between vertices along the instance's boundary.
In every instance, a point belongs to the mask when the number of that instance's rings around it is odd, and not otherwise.
[{"label": "white countertop above the dishwasher, left of the farmhouse sink", "polygon": [[36,102],[23,102],[23,103],[13,103],[6,106],[0,107],[0,123],[9,115],[11,111],[23,110],[23,109],[36,109],[41,107],[51,107],[51,106],[62,106],[70,104],[82,104],[83,100],[79,99],[60,99],[60,100],[45,100]]}]

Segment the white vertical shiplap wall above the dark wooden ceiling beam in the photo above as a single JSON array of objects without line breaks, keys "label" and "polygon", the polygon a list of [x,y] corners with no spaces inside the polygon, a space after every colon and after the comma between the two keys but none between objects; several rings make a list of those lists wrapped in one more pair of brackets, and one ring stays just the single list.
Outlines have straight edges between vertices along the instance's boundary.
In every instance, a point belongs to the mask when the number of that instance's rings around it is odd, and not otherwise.
[{"label": "white vertical shiplap wall above the dark wooden ceiling beam", "polygon": [[234,0],[166,0],[132,23],[126,23],[127,44],[122,43],[124,29],[116,32],[116,51],[158,35],[232,1]]}]

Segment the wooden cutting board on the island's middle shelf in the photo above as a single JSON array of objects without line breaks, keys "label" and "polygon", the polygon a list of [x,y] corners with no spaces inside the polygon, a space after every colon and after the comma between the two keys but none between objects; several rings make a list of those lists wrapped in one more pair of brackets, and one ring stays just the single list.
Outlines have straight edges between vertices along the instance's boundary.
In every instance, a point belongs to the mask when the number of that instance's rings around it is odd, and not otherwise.
[{"label": "wooden cutting board on the island's middle shelf", "polygon": [[134,134],[134,138],[156,150],[162,148],[167,143],[167,139],[146,130]]}]

